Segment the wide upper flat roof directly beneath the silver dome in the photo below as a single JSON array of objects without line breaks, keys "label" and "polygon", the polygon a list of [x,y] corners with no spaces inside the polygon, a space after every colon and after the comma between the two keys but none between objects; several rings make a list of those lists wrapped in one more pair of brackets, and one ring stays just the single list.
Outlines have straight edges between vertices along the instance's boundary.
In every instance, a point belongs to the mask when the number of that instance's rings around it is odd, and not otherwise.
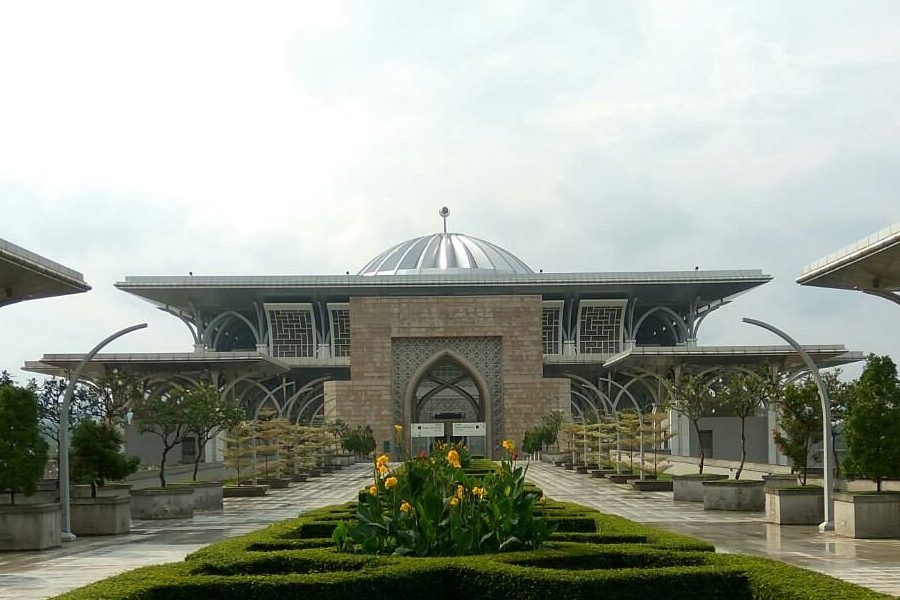
[{"label": "wide upper flat roof directly beneath the silver dome", "polygon": [[483,294],[565,294],[625,298],[642,302],[701,305],[731,298],[769,282],[761,270],[660,271],[631,273],[531,273],[498,275],[398,276],[234,276],[126,277],[116,287],[185,312],[252,307],[261,302],[311,299],[338,301],[353,296],[463,296]]}]

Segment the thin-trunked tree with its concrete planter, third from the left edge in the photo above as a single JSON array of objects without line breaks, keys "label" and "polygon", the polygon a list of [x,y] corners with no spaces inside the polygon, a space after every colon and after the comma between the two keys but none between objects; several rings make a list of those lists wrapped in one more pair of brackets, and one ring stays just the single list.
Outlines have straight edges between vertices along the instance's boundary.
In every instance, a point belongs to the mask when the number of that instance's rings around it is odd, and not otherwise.
[{"label": "thin-trunked tree with its concrete planter, third from the left edge", "polygon": [[185,395],[180,389],[153,396],[137,411],[138,430],[160,441],[159,487],[132,490],[131,517],[134,519],[176,519],[194,516],[194,490],[185,486],[166,486],[166,462],[169,452],[181,444],[188,433]]}]

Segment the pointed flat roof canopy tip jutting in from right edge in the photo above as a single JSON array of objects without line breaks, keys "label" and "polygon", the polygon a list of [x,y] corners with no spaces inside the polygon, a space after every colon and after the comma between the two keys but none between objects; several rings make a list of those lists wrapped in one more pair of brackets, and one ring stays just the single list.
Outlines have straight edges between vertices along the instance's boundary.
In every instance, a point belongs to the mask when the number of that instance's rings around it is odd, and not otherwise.
[{"label": "pointed flat roof canopy tip jutting in from right edge", "polygon": [[810,263],[797,283],[844,290],[900,291],[900,223]]}]

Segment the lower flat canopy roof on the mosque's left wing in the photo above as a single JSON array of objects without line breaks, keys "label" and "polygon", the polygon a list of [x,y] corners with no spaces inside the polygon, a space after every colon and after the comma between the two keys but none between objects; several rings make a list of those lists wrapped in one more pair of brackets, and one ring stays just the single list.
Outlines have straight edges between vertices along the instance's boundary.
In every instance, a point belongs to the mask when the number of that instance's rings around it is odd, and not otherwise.
[{"label": "lower flat canopy roof on the mosque's left wing", "polygon": [[[74,371],[84,354],[45,354],[39,361],[27,361],[24,370],[43,375],[62,376]],[[131,373],[180,373],[253,369],[260,375],[278,375],[290,367],[271,356],[259,352],[174,352],[168,354],[124,353],[98,354],[85,367],[85,376],[98,376],[110,369]]]}]

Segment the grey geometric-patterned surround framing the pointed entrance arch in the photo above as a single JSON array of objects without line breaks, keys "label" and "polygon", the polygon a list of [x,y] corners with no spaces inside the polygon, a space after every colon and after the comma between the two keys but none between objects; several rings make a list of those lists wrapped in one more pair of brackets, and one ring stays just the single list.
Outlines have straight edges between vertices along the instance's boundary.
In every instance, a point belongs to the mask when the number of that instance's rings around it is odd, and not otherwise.
[{"label": "grey geometric-patterned surround framing the pointed entrance arch", "polygon": [[442,350],[451,350],[478,371],[487,383],[491,410],[491,446],[503,440],[503,348],[498,337],[394,338],[391,340],[394,422],[403,422],[407,389],[414,385],[413,374]]}]

